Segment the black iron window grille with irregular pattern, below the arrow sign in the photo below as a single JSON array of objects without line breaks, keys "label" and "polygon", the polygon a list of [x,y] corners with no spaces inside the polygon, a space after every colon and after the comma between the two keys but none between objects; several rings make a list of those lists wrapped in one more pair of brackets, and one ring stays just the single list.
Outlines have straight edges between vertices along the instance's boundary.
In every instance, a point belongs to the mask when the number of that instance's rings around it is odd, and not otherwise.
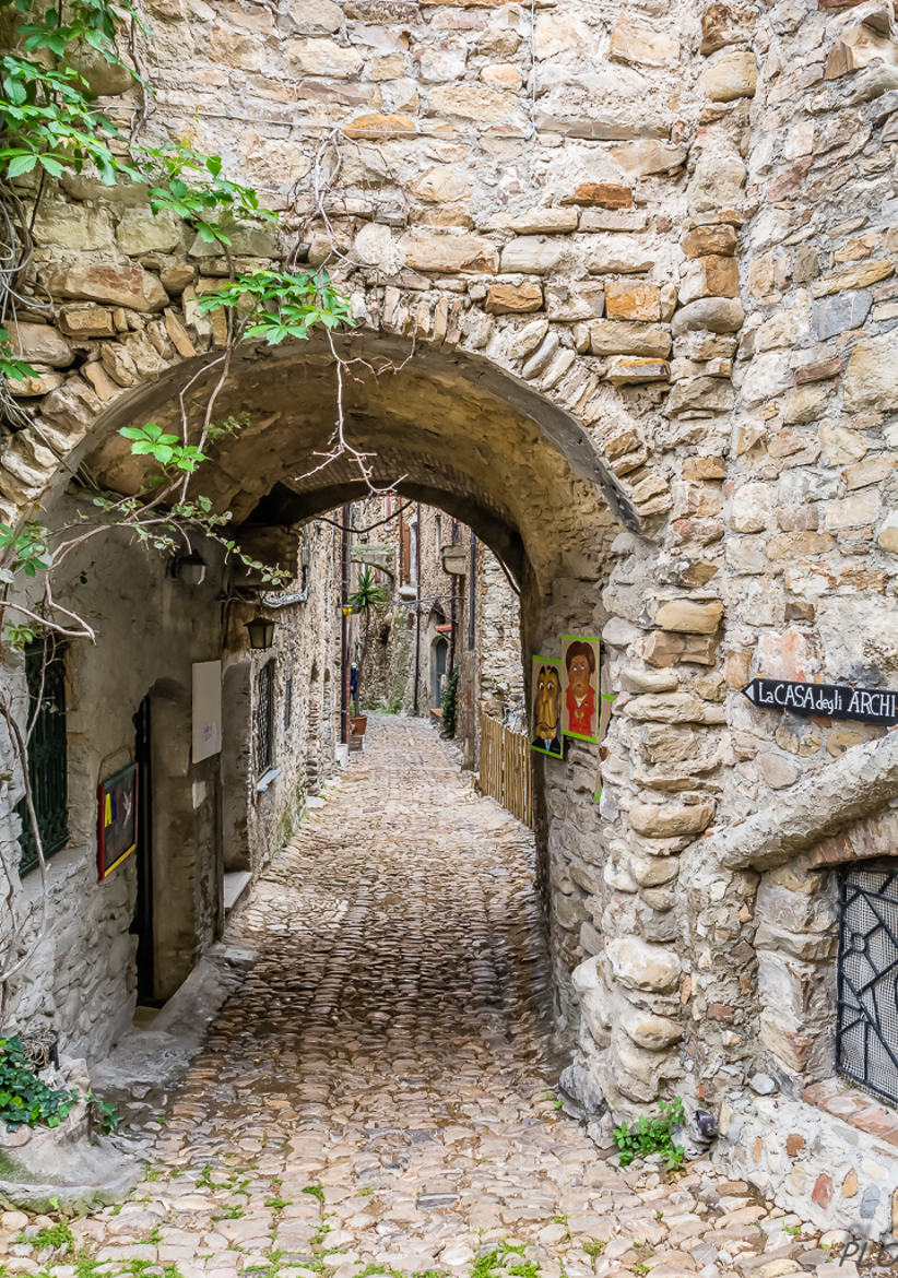
[{"label": "black iron window grille with irregular pattern, below the arrow sign", "polygon": [[898,868],[839,877],[837,1070],[898,1104]]}]

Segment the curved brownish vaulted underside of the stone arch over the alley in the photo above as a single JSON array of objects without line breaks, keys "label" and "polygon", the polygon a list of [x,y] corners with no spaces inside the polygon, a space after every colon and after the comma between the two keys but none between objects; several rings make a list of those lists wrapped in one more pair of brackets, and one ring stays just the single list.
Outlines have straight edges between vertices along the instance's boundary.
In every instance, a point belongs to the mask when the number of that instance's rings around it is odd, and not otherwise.
[{"label": "curved brownish vaulted underside of the stone arch over the alley", "polygon": [[[605,542],[621,527],[640,528],[637,507],[576,418],[497,364],[370,332],[346,335],[341,354],[360,362],[344,378],[345,426],[353,446],[372,454],[374,482],[464,519],[512,571],[526,553],[549,580],[558,547],[590,521]],[[69,464],[86,460],[111,487],[134,491],[144,468],[115,432],[143,420],[180,428],[188,383],[197,420],[218,371],[216,362],[183,362],[120,396]],[[239,348],[216,417],[247,412],[250,424],[216,450],[204,491],[235,524],[293,525],[358,498],[365,489],[347,456],[321,465],[336,403],[335,362],[322,341]]]}]

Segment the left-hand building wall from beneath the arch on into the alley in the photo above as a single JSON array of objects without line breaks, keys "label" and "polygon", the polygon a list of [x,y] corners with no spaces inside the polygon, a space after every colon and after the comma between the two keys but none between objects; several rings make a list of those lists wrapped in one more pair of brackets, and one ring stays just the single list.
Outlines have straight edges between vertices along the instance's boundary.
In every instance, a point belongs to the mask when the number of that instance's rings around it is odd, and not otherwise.
[{"label": "left-hand building wall from beneath the arch on into the alley", "polygon": [[[51,518],[60,523],[78,518],[78,504],[69,498],[56,502]],[[138,858],[130,856],[97,882],[97,785],[135,760],[134,716],[144,698],[151,700],[153,725],[156,907],[155,983],[143,998],[172,994],[220,935],[222,874],[258,870],[289,837],[310,789],[310,754],[314,751],[317,760],[314,786],[333,763],[332,743],[324,754],[322,723],[322,698],[335,686],[323,684],[333,656],[324,625],[333,611],[330,530],[322,534],[316,529],[309,541],[305,598],[277,610],[281,625],[273,649],[266,653],[248,651],[244,621],[254,606],[236,604],[222,626],[220,599],[231,593],[232,578],[215,546],[199,547],[207,560],[207,578],[199,587],[172,579],[166,556],[132,544],[121,530],[95,537],[66,561],[63,579],[55,581],[55,596],[95,626],[96,643],[75,639],[65,653],[69,840],[47,863],[45,939],[10,984],[5,1028],[34,1030],[51,1024],[68,1052],[95,1059],[130,1025],[138,997],[138,938],[132,932]],[[294,592],[298,585],[293,583]],[[222,751],[192,763],[192,663],[220,657]],[[272,659],[273,762],[280,771],[264,791],[258,791],[259,768],[253,758],[258,671]],[[321,671],[317,684],[312,679],[316,665]],[[22,703],[22,658],[8,657],[5,667],[4,685],[15,690]],[[289,725],[287,679],[293,679]],[[309,704],[313,686],[318,717]],[[22,794],[18,776],[4,786],[11,805]],[[239,827],[227,823],[224,791],[229,787],[227,797],[234,801],[236,794],[243,805]],[[13,814],[5,819],[15,838],[19,818]],[[6,849],[17,865],[18,846],[6,843]],[[20,943],[29,946],[42,910],[38,872],[22,881],[14,909],[27,920]]]}]

